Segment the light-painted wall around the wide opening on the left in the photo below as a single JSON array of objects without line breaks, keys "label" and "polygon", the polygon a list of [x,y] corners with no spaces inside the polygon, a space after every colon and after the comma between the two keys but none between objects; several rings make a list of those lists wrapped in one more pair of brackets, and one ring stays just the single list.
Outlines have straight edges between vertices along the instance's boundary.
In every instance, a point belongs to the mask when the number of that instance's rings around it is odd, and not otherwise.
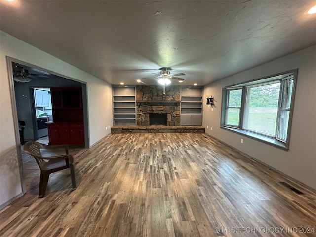
[{"label": "light-painted wall around the wide opening on the left", "polygon": [[87,83],[90,145],[108,135],[113,124],[110,84],[0,31],[0,206],[22,192],[6,56]]}]

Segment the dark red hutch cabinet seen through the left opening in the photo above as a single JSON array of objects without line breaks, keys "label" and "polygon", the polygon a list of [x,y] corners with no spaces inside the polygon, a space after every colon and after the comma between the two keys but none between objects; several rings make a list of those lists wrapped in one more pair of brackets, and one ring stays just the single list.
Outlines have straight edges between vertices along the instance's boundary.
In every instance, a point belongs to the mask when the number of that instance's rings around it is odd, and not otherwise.
[{"label": "dark red hutch cabinet seen through the left opening", "polygon": [[81,87],[51,88],[53,122],[47,122],[49,144],[84,144]]}]

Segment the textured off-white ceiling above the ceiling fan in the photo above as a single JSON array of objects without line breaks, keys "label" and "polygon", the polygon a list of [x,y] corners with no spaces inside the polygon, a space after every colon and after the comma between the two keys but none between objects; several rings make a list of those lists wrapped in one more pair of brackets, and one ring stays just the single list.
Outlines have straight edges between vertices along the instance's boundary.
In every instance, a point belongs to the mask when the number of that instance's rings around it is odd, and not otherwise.
[{"label": "textured off-white ceiling above the ceiling fan", "polygon": [[305,14],[315,4],[0,0],[0,29],[110,84],[171,67],[186,74],[182,85],[206,85],[316,44],[316,14]]}]

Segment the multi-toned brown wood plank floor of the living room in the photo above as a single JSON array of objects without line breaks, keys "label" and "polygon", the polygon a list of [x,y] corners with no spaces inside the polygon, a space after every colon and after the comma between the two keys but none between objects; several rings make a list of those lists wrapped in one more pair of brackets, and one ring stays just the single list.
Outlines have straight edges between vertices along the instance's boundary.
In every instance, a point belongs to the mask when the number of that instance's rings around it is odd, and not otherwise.
[{"label": "multi-toned brown wood plank floor of the living room", "polygon": [[110,134],[75,161],[77,189],[63,170],[39,199],[38,169],[1,237],[316,236],[315,192],[205,134]]}]

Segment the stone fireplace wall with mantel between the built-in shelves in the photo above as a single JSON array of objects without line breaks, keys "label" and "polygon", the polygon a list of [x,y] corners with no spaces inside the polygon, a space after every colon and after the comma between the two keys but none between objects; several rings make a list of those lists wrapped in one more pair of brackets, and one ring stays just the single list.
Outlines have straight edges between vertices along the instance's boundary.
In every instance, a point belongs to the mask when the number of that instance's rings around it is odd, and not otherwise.
[{"label": "stone fireplace wall with mantel between the built-in shelves", "polygon": [[[138,85],[136,93],[137,126],[180,126],[180,86],[167,86],[163,94],[162,86]],[[166,121],[152,124],[151,114],[164,114]]]}]

